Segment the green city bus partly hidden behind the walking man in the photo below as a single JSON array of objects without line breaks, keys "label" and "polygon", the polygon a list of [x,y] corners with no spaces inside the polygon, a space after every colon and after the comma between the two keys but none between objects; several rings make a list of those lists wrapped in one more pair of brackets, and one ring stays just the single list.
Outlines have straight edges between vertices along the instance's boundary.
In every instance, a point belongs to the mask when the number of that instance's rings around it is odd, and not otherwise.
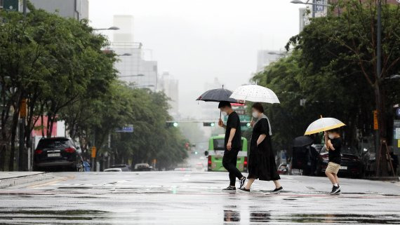
[{"label": "green city bus partly hidden behind the walking man", "polygon": [[[208,171],[227,171],[222,166],[225,151],[225,135],[213,136],[208,141]],[[242,149],[237,154],[236,168],[247,172],[247,139],[241,138]]]}]

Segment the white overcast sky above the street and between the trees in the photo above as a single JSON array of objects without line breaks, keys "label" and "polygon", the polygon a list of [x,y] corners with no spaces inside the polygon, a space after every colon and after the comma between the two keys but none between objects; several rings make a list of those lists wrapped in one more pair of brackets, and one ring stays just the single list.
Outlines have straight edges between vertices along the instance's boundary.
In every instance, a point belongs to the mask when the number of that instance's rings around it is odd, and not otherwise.
[{"label": "white overcast sky above the street and between the trees", "polygon": [[[134,16],[134,39],[152,49],[159,74],[180,82],[180,113],[196,116],[194,99],[218,77],[234,90],[248,83],[257,50],[283,50],[298,34],[298,4],[290,0],[90,0],[93,27],[113,15]],[[112,35],[112,31],[104,34]]]}]

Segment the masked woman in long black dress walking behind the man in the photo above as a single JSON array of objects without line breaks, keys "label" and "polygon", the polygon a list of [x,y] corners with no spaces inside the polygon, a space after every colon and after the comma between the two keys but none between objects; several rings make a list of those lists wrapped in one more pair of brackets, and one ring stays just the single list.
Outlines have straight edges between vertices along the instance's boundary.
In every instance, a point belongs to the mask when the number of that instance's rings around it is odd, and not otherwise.
[{"label": "masked woman in long black dress walking behind the man", "polygon": [[251,184],[255,179],[273,181],[275,184],[274,193],[282,191],[279,183],[278,171],[276,169],[274,151],[271,143],[271,125],[267,116],[264,114],[264,107],[260,103],[255,103],[251,107],[253,117],[257,118],[253,125],[253,135],[251,135],[250,154],[248,156],[248,182],[242,191],[250,191]]}]

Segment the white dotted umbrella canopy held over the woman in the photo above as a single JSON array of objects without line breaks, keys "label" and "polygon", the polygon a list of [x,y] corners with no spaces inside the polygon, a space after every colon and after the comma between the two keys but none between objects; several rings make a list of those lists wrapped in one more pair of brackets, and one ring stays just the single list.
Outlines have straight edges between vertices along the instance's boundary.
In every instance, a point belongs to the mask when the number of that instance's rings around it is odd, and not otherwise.
[{"label": "white dotted umbrella canopy held over the woman", "polygon": [[250,102],[281,103],[271,89],[258,85],[240,86],[230,97]]}]

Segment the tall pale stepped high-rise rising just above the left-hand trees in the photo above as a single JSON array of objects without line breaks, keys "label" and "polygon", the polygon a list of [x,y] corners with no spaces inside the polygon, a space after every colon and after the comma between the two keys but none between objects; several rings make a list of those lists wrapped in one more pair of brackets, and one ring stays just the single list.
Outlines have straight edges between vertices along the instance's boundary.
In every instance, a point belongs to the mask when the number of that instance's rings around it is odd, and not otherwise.
[{"label": "tall pale stepped high-rise rising just above the left-hand trees", "polygon": [[115,63],[119,79],[136,88],[156,90],[157,62],[145,57],[147,50],[142,43],[134,42],[133,16],[114,15],[114,26],[119,27],[119,30],[114,32],[109,50],[119,55],[119,61]]}]

